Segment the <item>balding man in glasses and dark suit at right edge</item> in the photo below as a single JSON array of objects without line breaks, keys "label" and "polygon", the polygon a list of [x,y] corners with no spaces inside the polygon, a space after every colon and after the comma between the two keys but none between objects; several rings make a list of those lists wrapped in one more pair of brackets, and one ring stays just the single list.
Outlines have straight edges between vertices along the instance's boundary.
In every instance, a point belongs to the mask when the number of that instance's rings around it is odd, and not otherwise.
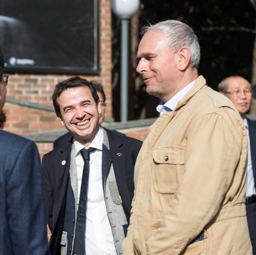
[{"label": "balding man in glasses and dark suit at right edge", "polygon": [[245,116],[250,109],[252,88],[249,81],[243,77],[230,76],[218,85],[218,91],[232,101],[246,127],[248,137],[246,215],[252,250],[256,255],[256,123]]}]

